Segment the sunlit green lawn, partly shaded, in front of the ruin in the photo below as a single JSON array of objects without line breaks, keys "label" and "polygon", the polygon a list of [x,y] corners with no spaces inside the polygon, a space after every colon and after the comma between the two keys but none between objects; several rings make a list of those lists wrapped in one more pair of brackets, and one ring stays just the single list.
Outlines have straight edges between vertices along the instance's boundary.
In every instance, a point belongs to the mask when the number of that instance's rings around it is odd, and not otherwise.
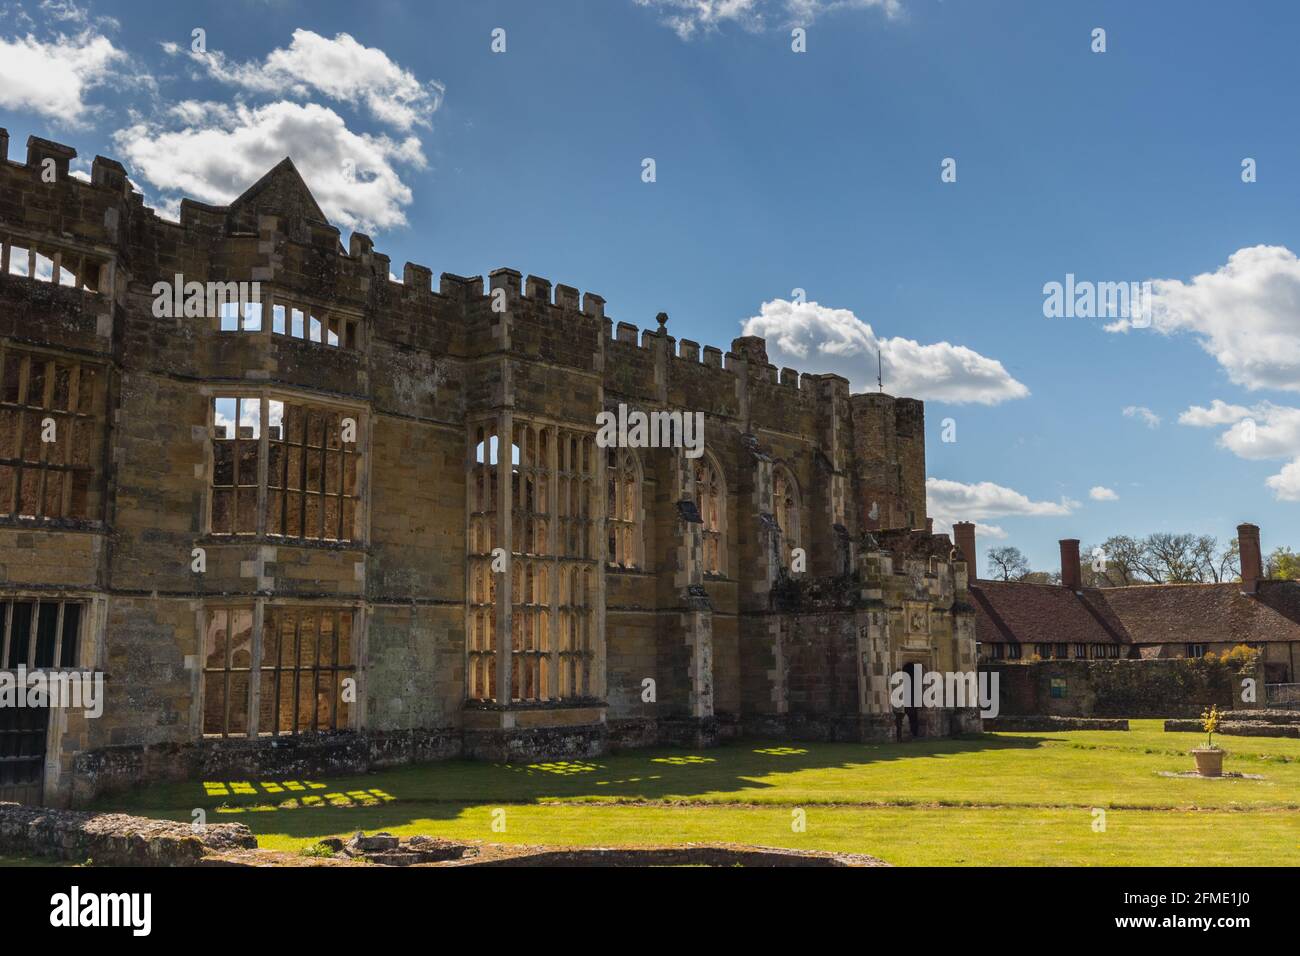
[{"label": "sunlit green lawn, partly shaded, in front of the ruin", "polygon": [[[101,809],[247,823],[263,847],[389,830],[490,842],[742,842],[897,865],[1300,865],[1300,740],[1222,737],[1225,769],[1161,777],[1199,734],[985,734],[911,744],[744,741],[593,761],[455,761],[318,780],[153,786]],[[504,810],[504,832],[493,812]],[[1105,810],[1098,831],[1096,809]],[[802,810],[806,829],[792,819]],[[499,814],[498,814],[499,818]]]}]

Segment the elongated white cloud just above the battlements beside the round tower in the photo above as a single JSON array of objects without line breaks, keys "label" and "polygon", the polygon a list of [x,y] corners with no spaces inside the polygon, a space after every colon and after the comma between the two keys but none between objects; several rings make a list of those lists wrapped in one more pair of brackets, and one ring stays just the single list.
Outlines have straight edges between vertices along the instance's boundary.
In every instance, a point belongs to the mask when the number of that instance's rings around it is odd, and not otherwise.
[{"label": "elongated white cloud just above the battlements beside the round tower", "polygon": [[885,390],[893,395],[952,403],[998,405],[1030,390],[1002,367],[961,345],[922,345],[910,338],[878,338],[846,308],[816,302],[772,299],[742,323],[744,334],[767,339],[768,359],[800,371],[836,372],[854,390],[875,386],[876,352]]}]

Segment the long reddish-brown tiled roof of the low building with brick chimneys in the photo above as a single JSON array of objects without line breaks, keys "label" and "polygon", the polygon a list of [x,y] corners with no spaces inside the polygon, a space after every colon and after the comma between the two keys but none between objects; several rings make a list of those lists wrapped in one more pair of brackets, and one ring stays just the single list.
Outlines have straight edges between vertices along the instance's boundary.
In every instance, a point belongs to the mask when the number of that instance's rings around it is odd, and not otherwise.
[{"label": "long reddish-brown tiled roof of the low building with brick chimneys", "polygon": [[975,581],[982,644],[1221,644],[1300,641],[1300,583],[1147,584],[1086,588]]}]

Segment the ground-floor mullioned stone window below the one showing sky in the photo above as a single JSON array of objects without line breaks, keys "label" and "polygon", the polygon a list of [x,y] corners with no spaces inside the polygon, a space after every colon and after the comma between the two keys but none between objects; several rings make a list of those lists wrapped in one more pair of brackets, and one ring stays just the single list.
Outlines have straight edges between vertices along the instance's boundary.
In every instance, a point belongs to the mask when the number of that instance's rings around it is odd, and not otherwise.
[{"label": "ground-floor mullioned stone window below the one showing sky", "polygon": [[[250,620],[248,631],[248,663],[247,666],[231,667],[231,643],[229,640],[229,618],[228,618],[228,637],[226,637],[226,656],[225,662],[220,667],[209,666],[208,659],[208,637],[209,628],[213,624],[214,613],[225,611],[226,614],[240,613],[247,614]],[[268,623],[277,618],[278,613],[292,611],[299,615],[315,613],[317,615],[332,614],[335,622],[343,618],[350,619],[348,637],[350,637],[350,661],[343,663],[342,661],[335,661],[333,665],[321,667],[318,663],[313,667],[282,667],[282,666],[268,666],[265,661],[266,650],[266,628]],[[196,611],[196,633],[199,643],[198,654],[198,667],[194,670],[194,710],[191,714],[191,731],[196,739],[200,740],[229,740],[229,739],[276,739],[276,737],[300,737],[304,735],[315,734],[330,734],[341,731],[356,731],[361,730],[364,726],[364,701],[363,701],[363,669],[361,661],[365,659],[364,637],[365,637],[365,624],[367,614],[365,609],[360,602],[356,601],[342,601],[342,602],[320,602],[320,601],[294,601],[294,600],[272,600],[272,598],[229,598],[218,601],[208,601]],[[298,624],[295,627],[295,658],[300,653],[300,627],[302,618],[298,618]],[[335,648],[338,646],[338,630],[335,633]],[[317,626],[317,640],[320,630]],[[318,644],[317,644],[318,648]],[[282,649],[282,648],[281,648]],[[317,652],[318,653],[318,652]],[[337,653],[337,649],[335,649]],[[298,662],[295,661],[295,665]],[[332,726],[330,727],[316,727],[313,717],[313,727],[300,730],[296,726],[298,706],[302,702],[299,696],[300,680],[303,674],[312,674],[313,688],[320,685],[320,674],[332,672],[335,675],[335,693],[332,701],[330,714]],[[231,732],[231,702],[233,697],[230,693],[231,675],[246,675],[246,684],[242,692],[243,696],[243,719],[238,724],[242,730]],[[263,706],[261,706],[261,692],[263,683],[268,678],[273,682],[272,687],[280,688],[280,683],[285,674],[295,675],[295,680],[299,682],[294,688],[294,728],[289,731],[281,731],[278,724],[272,728],[261,727]],[[220,731],[209,731],[207,723],[207,708],[208,708],[208,676],[221,675],[224,680],[222,696],[225,698],[224,717],[221,722]],[[356,680],[355,692],[356,696],[354,701],[347,704],[347,715],[341,723],[338,721],[339,710],[342,709],[342,701],[339,696],[342,693],[342,679],[343,675],[348,675]],[[317,689],[318,695],[318,689]],[[277,696],[276,709],[272,711],[273,717],[278,717],[278,704],[280,697]]]}]

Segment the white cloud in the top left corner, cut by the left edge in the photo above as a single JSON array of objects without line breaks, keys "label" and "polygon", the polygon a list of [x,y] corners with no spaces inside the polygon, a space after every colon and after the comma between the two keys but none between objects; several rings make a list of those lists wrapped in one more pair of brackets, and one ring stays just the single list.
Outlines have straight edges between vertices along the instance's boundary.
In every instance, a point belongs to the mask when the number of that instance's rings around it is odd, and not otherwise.
[{"label": "white cloud in the top left corner, cut by the left edge", "polygon": [[92,112],[87,92],[104,85],[125,60],[126,53],[92,30],[49,40],[31,34],[0,38],[0,107],[82,125]]}]

